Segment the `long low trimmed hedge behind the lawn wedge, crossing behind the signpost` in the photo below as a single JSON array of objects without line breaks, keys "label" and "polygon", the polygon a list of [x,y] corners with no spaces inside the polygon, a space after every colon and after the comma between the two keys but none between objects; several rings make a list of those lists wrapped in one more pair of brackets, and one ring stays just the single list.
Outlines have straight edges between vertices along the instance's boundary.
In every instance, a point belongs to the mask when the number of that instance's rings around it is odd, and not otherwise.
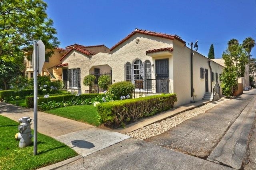
[{"label": "long low trimmed hedge behind the lawn wedge, crossing behind the signpost", "polygon": [[[105,94],[81,94],[79,96],[76,96],[74,94],[64,94],[64,95],[55,95],[55,96],[49,96],[48,98],[39,97],[38,104],[42,104],[42,102],[47,103],[49,101],[55,101],[55,102],[67,102],[74,99],[92,99],[92,98],[102,98]],[[26,96],[26,107],[33,108],[34,107],[34,96]]]}]

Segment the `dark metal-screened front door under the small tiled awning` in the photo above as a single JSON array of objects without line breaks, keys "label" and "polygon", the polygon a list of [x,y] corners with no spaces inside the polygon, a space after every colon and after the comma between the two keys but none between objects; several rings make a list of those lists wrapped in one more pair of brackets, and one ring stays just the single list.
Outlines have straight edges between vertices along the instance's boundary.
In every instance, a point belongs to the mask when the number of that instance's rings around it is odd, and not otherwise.
[{"label": "dark metal-screened front door under the small tiled awning", "polygon": [[169,93],[169,60],[156,60],[156,93]]}]

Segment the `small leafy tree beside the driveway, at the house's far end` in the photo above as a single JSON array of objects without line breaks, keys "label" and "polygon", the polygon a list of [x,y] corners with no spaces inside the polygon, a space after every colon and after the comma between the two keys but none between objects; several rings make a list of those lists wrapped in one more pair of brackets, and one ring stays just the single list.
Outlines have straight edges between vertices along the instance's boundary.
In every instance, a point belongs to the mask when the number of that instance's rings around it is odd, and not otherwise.
[{"label": "small leafy tree beside the driveway, at the house's far end", "polygon": [[245,65],[248,64],[246,51],[240,44],[231,44],[223,52],[222,58],[225,61],[224,71],[220,76],[223,94],[232,96],[237,89],[238,78],[244,76]]}]

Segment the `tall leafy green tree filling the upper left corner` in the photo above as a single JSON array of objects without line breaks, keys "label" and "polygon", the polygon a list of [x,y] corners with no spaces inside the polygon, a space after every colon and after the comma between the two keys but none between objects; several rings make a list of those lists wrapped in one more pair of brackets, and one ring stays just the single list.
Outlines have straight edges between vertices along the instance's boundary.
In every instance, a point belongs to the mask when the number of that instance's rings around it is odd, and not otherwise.
[{"label": "tall leafy green tree filling the upper left corner", "polygon": [[[34,40],[44,42],[48,49],[46,57],[58,46],[57,32],[53,21],[48,19],[46,8],[43,0],[0,1],[0,70],[15,70],[0,74],[5,84],[10,75],[23,69],[24,52],[32,51]],[[10,63],[18,67],[13,68]]]}]

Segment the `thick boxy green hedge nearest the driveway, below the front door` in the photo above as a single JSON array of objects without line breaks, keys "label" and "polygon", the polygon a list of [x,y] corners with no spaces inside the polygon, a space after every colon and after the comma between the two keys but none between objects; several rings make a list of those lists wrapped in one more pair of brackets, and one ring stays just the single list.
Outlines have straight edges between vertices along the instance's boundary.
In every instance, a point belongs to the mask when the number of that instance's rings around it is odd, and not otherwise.
[{"label": "thick boxy green hedge nearest the driveway, below the front door", "polygon": [[136,121],[138,118],[169,110],[173,108],[176,101],[176,94],[161,94],[100,103],[97,105],[97,111],[101,116],[102,123],[118,127]]}]

